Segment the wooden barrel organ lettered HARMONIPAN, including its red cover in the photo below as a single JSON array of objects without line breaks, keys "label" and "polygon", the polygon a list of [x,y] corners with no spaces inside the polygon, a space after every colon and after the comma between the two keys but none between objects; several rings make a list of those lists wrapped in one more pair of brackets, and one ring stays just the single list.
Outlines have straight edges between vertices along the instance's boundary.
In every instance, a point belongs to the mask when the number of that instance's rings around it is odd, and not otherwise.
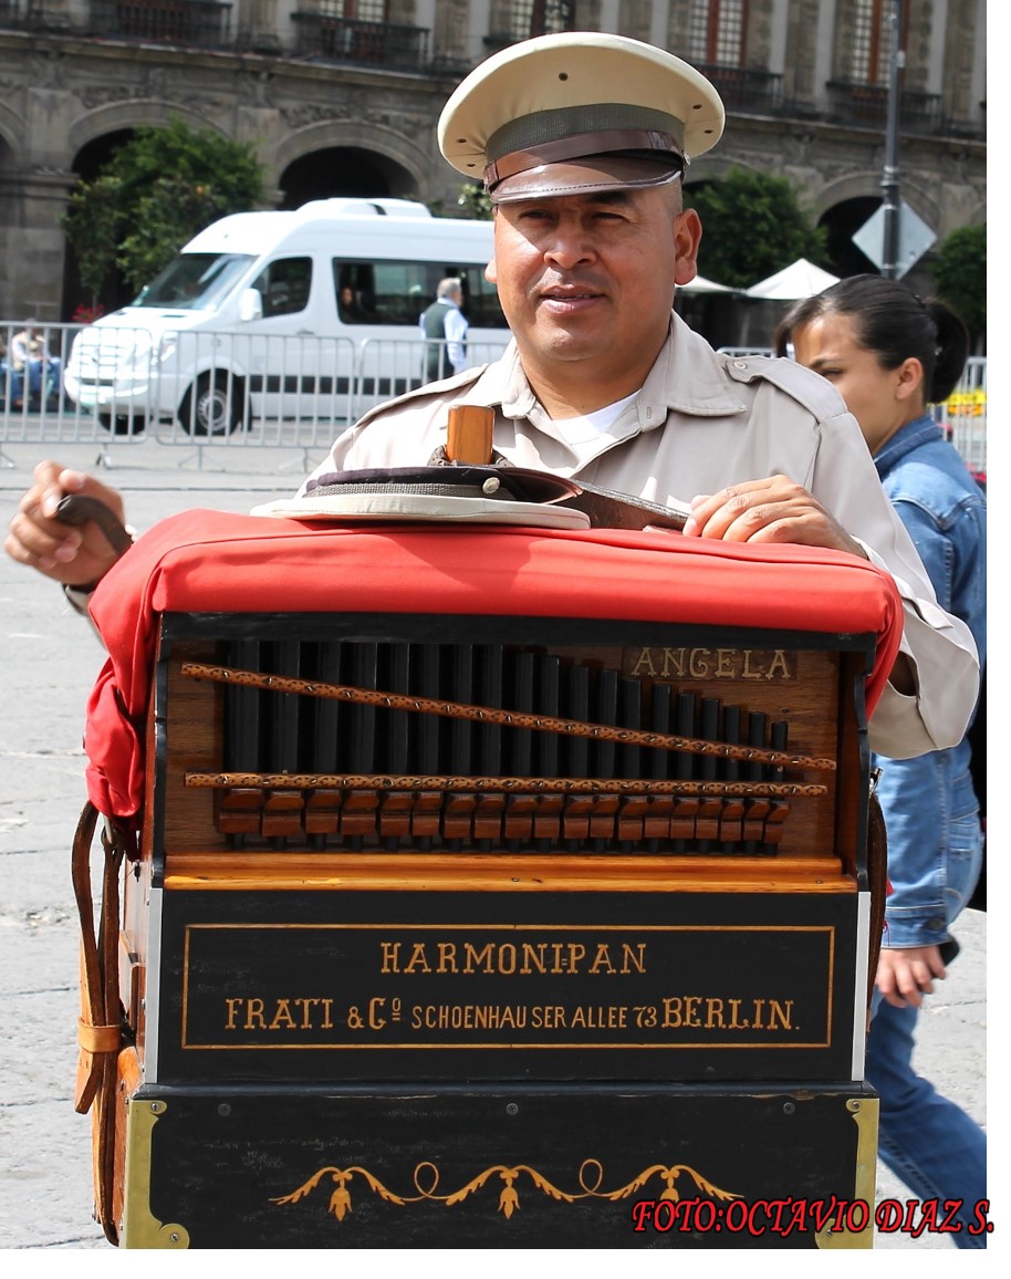
[{"label": "wooden barrel organ lettered HARMONIPAN, including its red cover", "polygon": [[142,796],[110,1237],[869,1247],[891,582],[648,533],[166,523],[88,728],[98,807]]}]

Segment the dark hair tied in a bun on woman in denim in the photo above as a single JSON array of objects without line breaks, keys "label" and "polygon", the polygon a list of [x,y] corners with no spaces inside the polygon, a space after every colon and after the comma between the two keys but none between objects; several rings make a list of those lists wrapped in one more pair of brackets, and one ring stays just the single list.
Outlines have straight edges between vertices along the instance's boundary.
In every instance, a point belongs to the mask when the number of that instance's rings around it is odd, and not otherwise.
[{"label": "dark hair tied in a bun on woman in denim", "polygon": [[794,303],[776,329],[776,354],[787,353],[796,329],[830,315],[853,320],[856,341],[878,357],[882,368],[919,359],[930,404],[955,390],[969,358],[969,333],[946,303],[922,302],[905,284],[882,275],[851,275]]}]

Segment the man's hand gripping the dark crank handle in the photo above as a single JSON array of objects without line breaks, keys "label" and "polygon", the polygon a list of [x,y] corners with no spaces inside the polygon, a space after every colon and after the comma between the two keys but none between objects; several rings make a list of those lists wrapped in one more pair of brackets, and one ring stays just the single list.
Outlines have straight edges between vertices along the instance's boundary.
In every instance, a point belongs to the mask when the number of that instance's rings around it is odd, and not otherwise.
[{"label": "man's hand gripping the dark crank handle", "polygon": [[68,471],[59,462],[40,462],[35,483],[10,521],[4,549],[19,564],[38,569],[64,586],[91,586],[105,577],[119,556],[95,524],[72,528],[54,518],[68,494],[97,498],[123,521],[123,498],[115,489],[81,471]]}]

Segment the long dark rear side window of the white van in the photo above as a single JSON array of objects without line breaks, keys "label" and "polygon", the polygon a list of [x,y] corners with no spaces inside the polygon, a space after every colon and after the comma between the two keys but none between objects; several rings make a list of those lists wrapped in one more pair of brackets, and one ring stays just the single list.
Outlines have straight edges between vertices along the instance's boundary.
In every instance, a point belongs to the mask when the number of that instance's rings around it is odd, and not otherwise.
[{"label": "long dark rear side window of the white van", "polygon": [[438,281],[463,281],[463,312],[475,329],[505,329],[495,285],[484,263],[363,262],[334,258],[334,294],[344,324],[389,324],[417,330],[418,316],[435,302]]}]

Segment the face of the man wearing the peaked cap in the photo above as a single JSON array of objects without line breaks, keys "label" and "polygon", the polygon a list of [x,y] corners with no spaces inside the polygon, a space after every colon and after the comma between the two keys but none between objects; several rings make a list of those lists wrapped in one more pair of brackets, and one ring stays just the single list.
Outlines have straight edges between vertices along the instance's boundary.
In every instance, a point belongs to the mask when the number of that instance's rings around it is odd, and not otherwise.
[{"label": "face of the man wearing the peaked cap", "polygon": [[679,187],[608,191],[501,205],[495,212],[497,285],[528,376],[652,365],[675,284],[695,276],[700,224],[679,212]]}]

